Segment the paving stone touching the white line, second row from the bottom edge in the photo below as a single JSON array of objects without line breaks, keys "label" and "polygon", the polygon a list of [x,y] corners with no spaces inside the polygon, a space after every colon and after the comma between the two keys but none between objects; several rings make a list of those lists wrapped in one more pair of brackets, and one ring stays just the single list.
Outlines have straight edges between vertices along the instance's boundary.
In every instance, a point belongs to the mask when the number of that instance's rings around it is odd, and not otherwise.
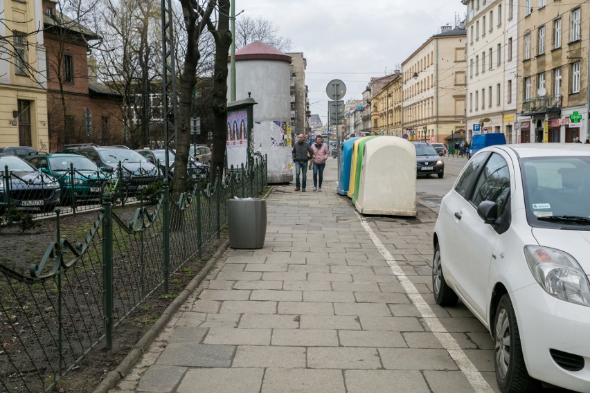
[{"label": "paving stone touching the white line, second row from the bottom edge", "polygon": [[385,369],[458,369],[445,349],[379,348],[379,354]]}]

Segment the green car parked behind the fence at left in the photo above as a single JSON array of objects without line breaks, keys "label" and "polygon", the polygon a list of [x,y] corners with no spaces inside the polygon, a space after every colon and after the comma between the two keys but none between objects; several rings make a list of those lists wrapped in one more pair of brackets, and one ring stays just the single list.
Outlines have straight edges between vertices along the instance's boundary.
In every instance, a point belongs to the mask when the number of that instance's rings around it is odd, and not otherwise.
[{"label": "green car parked behind the fence at left", "polygon": [[79,154],[37,154],[24,158],[57,179],[64,200],[72,195],[75,199],[99,199],[105,183],[116,176]]}]

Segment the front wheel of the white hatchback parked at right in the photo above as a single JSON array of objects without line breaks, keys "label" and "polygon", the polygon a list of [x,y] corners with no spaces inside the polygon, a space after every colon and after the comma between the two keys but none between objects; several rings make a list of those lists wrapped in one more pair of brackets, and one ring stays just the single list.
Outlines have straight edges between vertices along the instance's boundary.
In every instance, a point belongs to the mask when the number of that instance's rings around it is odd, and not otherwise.
[{"label": "front wheel of the white hatchback parked at right", "polygon": [[501,392],[536,392],[538,381],[526,371],[515,310],[510,296],[500,298],[494,322],[494,366]]}]

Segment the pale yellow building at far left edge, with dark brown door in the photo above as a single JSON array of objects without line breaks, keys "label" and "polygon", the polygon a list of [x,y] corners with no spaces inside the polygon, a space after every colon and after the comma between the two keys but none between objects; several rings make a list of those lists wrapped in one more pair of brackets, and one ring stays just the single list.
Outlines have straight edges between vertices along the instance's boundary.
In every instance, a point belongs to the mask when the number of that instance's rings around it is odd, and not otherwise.
[{"label": "pale yellow building at far left edge, with dark brown door", "polygon": [[41,0],[0,2],[0,147],[48,149]]}]

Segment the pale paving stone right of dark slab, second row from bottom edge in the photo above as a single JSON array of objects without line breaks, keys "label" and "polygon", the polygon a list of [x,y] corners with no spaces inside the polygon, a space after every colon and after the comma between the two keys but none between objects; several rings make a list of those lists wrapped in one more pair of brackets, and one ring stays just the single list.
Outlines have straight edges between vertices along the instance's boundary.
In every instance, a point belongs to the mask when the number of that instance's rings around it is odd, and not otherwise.
[{"label": "pale paving stone right of dark slab, second row from bottom edge", "polygon": [[232,367],[305,368],[303,347],[258,347],[240,345],[235,351]]}]

